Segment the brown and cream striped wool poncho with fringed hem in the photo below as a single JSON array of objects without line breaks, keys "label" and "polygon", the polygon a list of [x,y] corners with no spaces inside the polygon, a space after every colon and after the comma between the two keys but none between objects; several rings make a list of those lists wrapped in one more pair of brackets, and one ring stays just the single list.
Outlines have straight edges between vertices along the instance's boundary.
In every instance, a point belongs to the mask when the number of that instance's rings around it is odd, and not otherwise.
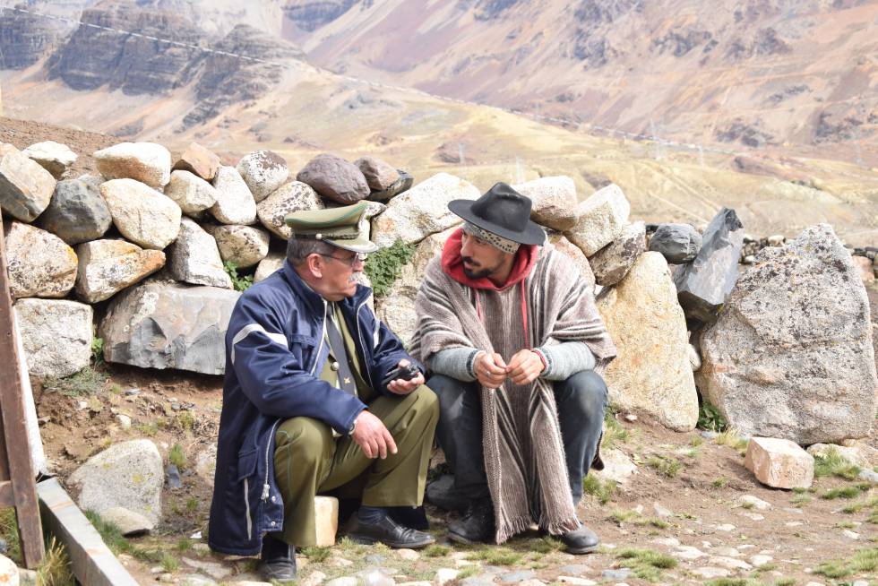
[{"label": "brown and cream striped wool poncho with fringed hem", "polygon": [[[443,251],[446,266],[449,254],[459,254],[449,250],[453,240]],[[415,309],[417,328],[409,353],[421,361],[455,347],[488,352],[504,347],[508,353],[519,343],[533,348],[565,341],[586,343],[597,359],[598,374],[615,358],[589,284],[569,257],[548,244],[539,249],[527,277],[499,291],[474,289],[455,280],[443,270],[443,258],[436,257],[427,265]],[[552,383],[540,378],[525,386],[507,381],[497,389],[481,387],[479,393],[496,542],[503,543],[533,522],[553,535],[575,530],[579,521]]]}]

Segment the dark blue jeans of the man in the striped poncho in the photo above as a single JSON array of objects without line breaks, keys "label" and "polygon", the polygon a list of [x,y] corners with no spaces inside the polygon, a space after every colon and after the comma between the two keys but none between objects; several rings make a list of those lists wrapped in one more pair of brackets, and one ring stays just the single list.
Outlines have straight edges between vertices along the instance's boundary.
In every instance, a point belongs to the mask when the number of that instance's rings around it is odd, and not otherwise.
[{"label": "dark blue jeans of the man in the striped poncho", "polygon": [[[490,496],[482,452],[482,406],[478,383],[465,383],[450,376],[434,375],[427,386],[439,396],[436,439],[454,474],[454,487],[468,499]],[[555,402],[567,458],[567,475],[573,503],[582,497],[582,478],[589,473],[598,449],[607,408],[607,384],[600,375],[584,370],[557,381]]]}]

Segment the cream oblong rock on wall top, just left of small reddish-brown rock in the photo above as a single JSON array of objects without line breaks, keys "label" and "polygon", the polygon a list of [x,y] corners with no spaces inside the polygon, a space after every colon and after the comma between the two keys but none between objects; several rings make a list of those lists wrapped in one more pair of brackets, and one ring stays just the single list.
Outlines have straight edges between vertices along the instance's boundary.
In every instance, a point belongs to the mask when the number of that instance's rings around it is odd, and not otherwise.
[{"label": "cream oblong rock on wall top, just left of small reddish-brown rock", "polygon": [[155,142],[120,142],[96,151],[94,159],[108,179],[134,179],[156,189],[171,180],[171,153]]}]

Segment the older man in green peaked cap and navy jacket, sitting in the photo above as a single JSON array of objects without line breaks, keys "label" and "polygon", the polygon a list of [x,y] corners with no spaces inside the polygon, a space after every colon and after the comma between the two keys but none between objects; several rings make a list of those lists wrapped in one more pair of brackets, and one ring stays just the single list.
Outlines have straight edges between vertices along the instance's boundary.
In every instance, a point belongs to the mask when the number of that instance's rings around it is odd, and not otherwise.
[{"label": "older man in green peaked cap and navy jacket, sitting", "polygon": [[355,479],[365,485],[352,539],[434,542],[388,514],[422,502],[438,402],[357,285],[376,249],[365,211],[288,216],[286,262],[245,291],[228,325],[209,539],[229,554],[261,551],[267,580],[296,577],[295,547],[316,539],[314,496]]}]

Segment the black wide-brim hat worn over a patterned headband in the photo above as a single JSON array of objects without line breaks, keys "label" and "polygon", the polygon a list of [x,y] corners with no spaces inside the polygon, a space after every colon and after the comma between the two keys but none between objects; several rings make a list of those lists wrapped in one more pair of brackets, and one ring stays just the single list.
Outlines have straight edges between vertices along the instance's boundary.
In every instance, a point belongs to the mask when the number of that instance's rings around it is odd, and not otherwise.
[{"label": "black wide-brim hat worn over a patterned headband", "polygon": [[530,220],[532,205],[529,198],[500,182],[476,201],[452,200],[448,209],[470,224],[512,242],[542,245],[546,242],[546,232]]}]

